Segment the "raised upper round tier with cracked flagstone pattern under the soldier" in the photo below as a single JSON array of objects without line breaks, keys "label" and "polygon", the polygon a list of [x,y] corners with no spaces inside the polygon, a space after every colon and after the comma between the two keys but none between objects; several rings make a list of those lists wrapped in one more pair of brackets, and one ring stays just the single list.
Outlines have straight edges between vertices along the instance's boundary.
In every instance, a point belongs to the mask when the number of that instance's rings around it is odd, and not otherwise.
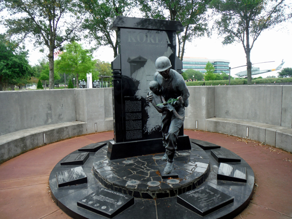
[{"label": "raised upper round tier with cracked flagstone pattern under the soldier", "polygon": [[[164,154],[151,154],[109,161],[107,146],[96,152],[93,162],[95,178],[106,188],[135,198],[159,199],[177,196],[197,188],[210,172],[209,156],[193,144],[191,150],[177,151],[171,175],[162,176]],[[173,178],[173,180],[171,180]],[[174,180],[176,179],[176,180]]]}]

